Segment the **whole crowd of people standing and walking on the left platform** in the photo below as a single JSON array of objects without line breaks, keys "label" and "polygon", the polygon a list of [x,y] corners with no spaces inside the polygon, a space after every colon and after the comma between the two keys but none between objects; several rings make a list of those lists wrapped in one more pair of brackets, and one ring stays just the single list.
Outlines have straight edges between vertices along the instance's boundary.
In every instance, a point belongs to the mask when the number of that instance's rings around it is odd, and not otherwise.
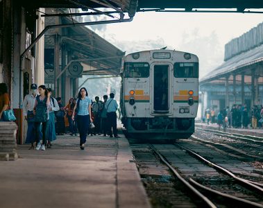
[{"label": "whole crowd of people standing and walking on the left platform", "polygon": [[[10,100],[7,86],[0,84],[0,121],[3,121],[3,111],[8,110]],[[117,101],[114,94],[99,96],[92,102],[87,89],[82,87],[77,98],[70,98],[66,106],[62,98],[53,98],[52,89],[45,85],[37,87],[31,85],[31,91],[23,101],[23,114],[28,124],[26,144],[29,149],[46,150],[51,148],[51,141],[56,135],[70,133],[80,137],[80,149],[84,150],[87,135],[101,135],[104,137],[119,137],[117,135]],[[113,133],[112,133],[113,132]],[[40,142],[42,140],[42,143]]]}]

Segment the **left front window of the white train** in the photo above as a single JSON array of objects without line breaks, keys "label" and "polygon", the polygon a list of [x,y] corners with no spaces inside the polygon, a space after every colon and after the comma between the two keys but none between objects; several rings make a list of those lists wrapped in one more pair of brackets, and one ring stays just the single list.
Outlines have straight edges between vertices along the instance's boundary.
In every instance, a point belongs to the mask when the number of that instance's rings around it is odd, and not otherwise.
[{"label": "left front window of the white train", "polygon": [[149,77],[150,65],[147,62],[125,62],[124,77],[147,78]]}]

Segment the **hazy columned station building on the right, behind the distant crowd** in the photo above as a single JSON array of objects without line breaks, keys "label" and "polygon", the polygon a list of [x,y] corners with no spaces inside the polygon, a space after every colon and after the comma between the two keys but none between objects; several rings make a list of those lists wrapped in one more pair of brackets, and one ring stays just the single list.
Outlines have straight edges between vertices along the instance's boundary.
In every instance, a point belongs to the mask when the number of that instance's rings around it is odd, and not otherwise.
[{"label": "hazy columned station building on the right, behind the distant crowd", "polygon": [[263,23],[225,45],[224,62],[200,80],[201,116],[234,103],[263,104]]}]

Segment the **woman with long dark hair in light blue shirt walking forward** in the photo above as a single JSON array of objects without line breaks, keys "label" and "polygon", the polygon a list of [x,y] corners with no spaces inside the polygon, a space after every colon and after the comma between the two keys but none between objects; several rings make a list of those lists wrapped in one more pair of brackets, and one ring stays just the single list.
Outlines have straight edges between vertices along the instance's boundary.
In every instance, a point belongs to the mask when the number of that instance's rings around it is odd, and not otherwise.
[{"label": "woman with long dark hair in light blue shirt walking forward", "polygon": [[92,101],[87,96],[87,89],[82,87],[78,92],[78,99],[76,105],[74,106],[72,120],[75,119],[76,112],[76,121],[78,125],[78,132],[80,133],[80,149],[84,150],[85,142],[87,139],[87,130],[89,129],[90,122],[92,121],[91,113],[91,104]]}]

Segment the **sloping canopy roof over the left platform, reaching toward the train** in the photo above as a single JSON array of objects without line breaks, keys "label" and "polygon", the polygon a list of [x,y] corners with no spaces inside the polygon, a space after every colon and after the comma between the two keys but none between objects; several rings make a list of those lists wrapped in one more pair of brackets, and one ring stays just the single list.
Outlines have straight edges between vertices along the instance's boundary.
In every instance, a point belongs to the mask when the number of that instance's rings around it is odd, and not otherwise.
[{"label": "sloping canopy roof over the left platform, reaching toward the train", "polygon": [[[71,22],[71,18],[62,17],[62,24]],[[83,74],[119,75],[125,53],[86,26],[67,28],[61,42],[71,50],[71,58],[85,65]]]}]

